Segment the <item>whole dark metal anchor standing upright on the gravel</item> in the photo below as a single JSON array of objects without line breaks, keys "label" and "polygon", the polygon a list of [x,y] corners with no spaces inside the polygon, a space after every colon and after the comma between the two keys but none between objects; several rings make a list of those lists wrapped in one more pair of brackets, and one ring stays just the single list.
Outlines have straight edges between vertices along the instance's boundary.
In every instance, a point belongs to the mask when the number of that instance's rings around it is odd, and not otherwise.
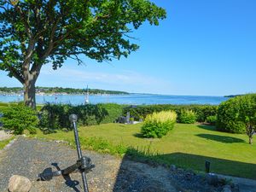
[{"label": "whole dark metal anchor standing upright on the gravel", "polygon": [[83,186],[84,186],[84,192],[88,192],[88,184],[86,180],[85,173],[88,173],[91,171],[92,168],[95,167],[95,165],[91,164],[91,160],[89,157],[82,156],[82,151],[80,148],[80,143],[79,143],[79,132],[77,129],[77,121],[78,117],[76,114],[71,114],[69,116],[69,120],[71,121],[73,125],[73,132],[74,132],[74,137],[75,137],[75,142],[76,142],[76,147],[77,147],[77,152],[79,156],[79,160],[77,160],[77,163],[74,164],[73,166],[68,166],[66,169],[52,172],[51,169],[45,169],[44,172],[40,173],[38,177],[43,180],[43,181],[49,181],[52,179],[52,177],[56,176],[67,176],[72,172],[79,171],[82,174],[82,180],[83,180]]}]

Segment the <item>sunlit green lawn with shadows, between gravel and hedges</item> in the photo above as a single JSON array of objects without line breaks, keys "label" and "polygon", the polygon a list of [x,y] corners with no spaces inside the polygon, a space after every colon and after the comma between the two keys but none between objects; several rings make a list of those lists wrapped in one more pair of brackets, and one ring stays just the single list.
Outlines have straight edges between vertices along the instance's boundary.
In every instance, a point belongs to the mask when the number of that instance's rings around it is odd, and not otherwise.
[{"label": "sunlit green lawn with shadows, between gravel and hedges", "polygon": [[[207,125],[177,124],[166,137],[145,139],[140,137],[141,125],[105,124],[80,127],[80,137],[102,137],[113,144],[134,148],[147,148],[158,152],[154,160],[167,165],[204,171],[205,161],[211,162],[211,172],[256,179],[256,144],[249,145],[247,136],[215,131]],[[73,131],[57,131],[37,137],[73,140]]]}]

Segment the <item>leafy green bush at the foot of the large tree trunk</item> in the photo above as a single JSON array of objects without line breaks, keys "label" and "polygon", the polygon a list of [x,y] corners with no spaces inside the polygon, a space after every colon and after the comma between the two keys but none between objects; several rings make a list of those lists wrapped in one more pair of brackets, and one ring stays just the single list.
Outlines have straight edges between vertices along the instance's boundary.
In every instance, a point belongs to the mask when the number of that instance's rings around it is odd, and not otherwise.
[{"label": "leafy green bush at the foot of the large tree trunk", "polygon": [[22,134],[24,130],[36,133],[35,127],[38,125],[38,116],[32,108],[18,104],[4,108],[1,121],[3,128],[13,130],[15,135]]}]

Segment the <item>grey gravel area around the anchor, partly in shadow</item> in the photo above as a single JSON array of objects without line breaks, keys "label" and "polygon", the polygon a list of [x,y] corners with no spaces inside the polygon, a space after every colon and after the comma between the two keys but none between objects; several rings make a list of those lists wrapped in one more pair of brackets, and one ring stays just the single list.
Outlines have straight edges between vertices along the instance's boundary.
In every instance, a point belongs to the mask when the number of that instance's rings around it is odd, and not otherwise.
[{"label": "grey gravel area around the anchor, partly in shadow", "polygon": [[[87,174],[90,191],[170,191],[176,192],[170,180],[170,172],[158,166],[152,167],[131,160],[120,160],[108,154],[84,151],[96,168]],[[77,160],[76,150],[56,142],[19,137],[11,147],[0,153],[0,191],[7,191],[9,177],[14,174],[32,181],[31,192],[83,191],[79,173],[70,177],[54,177],[48,182],[37,181],[37,175],[55,165],[61,169]]]}]

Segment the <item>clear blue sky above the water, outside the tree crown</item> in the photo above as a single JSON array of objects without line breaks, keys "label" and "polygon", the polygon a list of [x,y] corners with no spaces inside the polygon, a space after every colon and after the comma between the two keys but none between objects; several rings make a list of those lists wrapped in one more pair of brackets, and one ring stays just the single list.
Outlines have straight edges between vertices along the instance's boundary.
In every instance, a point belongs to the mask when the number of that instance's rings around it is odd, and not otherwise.
[{"label": "clear blue sky above the water, outside the tree crown", "polygon": [[[224,96],[256,92],[255,0],[154,0],[167,11],[160,26],[145,24],[128,59],[84,66],[45,65],[38,86],[168,95]],[[20,86],[0,72],[0,86]]]}]

